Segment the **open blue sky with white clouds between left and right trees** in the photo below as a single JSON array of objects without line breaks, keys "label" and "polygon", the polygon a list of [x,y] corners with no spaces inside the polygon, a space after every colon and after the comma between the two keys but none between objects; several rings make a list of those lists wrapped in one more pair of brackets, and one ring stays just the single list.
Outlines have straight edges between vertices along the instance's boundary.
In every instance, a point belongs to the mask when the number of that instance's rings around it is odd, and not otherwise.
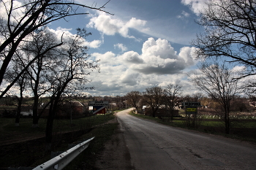
[{"label": "open blue sky with white clouds between left and right trees", "polygon": [[[101,7],[107,0],[77,0]],[[198,91],[188,80],[197,69],[195,47],[189,45],[203,28],[195,23],[206,0],[111,0],[105,11],[86,9],[89,15],[58,20],[49,28],[75,34],[86,28],[91,59],[100,60],[100,73],[89,76],[91,96],[124,96],[132,90],[169,84],[181,85],[184,94]],[[82,9],[81,9],[82,10]],[[83,9],[84,10],[84,9]]]}]

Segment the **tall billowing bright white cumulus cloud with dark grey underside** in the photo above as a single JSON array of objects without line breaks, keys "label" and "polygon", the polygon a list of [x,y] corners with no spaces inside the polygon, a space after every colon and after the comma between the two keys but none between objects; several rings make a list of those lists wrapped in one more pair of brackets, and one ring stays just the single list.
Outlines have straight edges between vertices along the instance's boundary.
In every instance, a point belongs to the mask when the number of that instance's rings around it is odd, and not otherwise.
[{"label": "tall billowing bright white cumulus cloud with dark grey underside", "polygon": [[143,44],[141,55],[127,52],[123,57],[138,61],[130,68],[143,74],[177,74],[195,64],[192,58],[193,50],[194,47],[183,47],[177,55],[167,40],[149,38]]}]

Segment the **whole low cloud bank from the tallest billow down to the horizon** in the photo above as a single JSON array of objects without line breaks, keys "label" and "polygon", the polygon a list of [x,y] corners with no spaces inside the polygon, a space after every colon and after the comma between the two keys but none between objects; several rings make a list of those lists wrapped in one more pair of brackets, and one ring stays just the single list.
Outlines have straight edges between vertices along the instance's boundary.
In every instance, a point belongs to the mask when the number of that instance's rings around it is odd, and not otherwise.
[{"label": "whole low cloud bank from the tallest billow down to the horizon", "polygon": [[99,61],[100,72],[94,72],[94,85],[98,87],[102,95],[118,93],[123,90],[126,93],[131,90],[145,90],[145,88],[170,84],[182,84],[190,88],[187,83],[187,71],[189,66],[195,66],[192,53],[195,47],[182,47],[177,53],[165,39],[149,38],[143,43],[142,53],[127,51],[121,55],[113,52],[93,53]]}]

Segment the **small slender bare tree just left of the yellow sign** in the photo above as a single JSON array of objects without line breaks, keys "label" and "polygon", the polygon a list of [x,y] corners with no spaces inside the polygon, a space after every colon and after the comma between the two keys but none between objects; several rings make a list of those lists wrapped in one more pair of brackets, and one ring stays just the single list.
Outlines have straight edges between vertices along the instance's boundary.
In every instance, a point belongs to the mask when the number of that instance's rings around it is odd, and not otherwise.
[{"label": "small slender bare tree just left of the yellow sign", "polygon": [[169,107],[170,110],[170,119],[173,120],[173,110],[178,99],[178,96],[181,95],[181,85],[167,85],[167,88],[164,89],[164,98],[165,103]]}]

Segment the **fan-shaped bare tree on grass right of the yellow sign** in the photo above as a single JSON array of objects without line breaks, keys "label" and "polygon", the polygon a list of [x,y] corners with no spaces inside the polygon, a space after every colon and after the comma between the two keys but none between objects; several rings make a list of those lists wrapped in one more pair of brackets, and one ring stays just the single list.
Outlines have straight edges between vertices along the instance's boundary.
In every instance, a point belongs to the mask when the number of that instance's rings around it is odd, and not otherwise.
[{"label": "fan-shaped bare tree on grass right of the yellow sign", "polygon": [[196,88],[205,91],[208,96],[211,96],[217,101],[222,109],[224,115],[222,118],[225,121],[225,132],[230,132],[230,101],[238,93],[238,82],[233,78],[236,76],[235,72],[228,69],[225,63],[202,63],[199,66],[201,75],[189,76]]}]

